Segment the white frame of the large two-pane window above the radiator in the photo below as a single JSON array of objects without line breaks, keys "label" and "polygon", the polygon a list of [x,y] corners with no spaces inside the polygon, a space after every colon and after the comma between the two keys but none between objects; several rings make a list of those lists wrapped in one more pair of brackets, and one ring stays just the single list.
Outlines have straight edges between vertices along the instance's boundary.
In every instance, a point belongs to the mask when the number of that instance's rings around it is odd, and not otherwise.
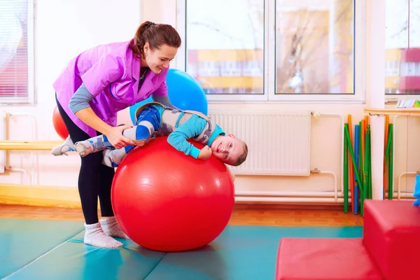
[{"label": "white frame of the large two-pane window above the radiator", "polygon": [[[176,29],[182,38],[175,68],[186,71],[186,1],[176,0]],[[276,94],[276,0],[264,1],[264,94],[206,94],[209,102],[364,104],[366,98],[366,0],[354,3],[354,94]]]}]

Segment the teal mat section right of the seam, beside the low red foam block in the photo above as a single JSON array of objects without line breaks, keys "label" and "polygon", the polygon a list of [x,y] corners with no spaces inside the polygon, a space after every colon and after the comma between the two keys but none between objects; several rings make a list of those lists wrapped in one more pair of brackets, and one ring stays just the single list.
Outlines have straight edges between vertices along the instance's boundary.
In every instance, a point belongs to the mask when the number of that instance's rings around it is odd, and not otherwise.
[{"label": "teal mat section right of the seam, beside the low red foam block", "polygon": [[167,253],[146,280],[274,279],[281,238],[360,238],[362,235],[362,227],[230,226],[200,250]]}]

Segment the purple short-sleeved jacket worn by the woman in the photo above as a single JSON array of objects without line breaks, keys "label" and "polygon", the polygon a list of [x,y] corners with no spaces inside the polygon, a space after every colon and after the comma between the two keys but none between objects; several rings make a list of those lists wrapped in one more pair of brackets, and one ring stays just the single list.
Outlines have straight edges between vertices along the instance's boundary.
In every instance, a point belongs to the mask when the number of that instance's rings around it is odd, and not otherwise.
[{"label": "purple short-sleeved jacket worn by the woman", "polygon": [[97,135],[95,130],[69,109],[70,99],[82,83],[94,96],[90,102],[94,113],[112,126],[116,126],[118,111],[147,99],[152,93],[162,96],[167,94],[165,80],[168,69],[163,69],[159,74],[148,71],[138,90],[140,59],[132,54],[130,42],[98,45],[82,52],[71,59],[53,84],[59,104],[90,137]]}]

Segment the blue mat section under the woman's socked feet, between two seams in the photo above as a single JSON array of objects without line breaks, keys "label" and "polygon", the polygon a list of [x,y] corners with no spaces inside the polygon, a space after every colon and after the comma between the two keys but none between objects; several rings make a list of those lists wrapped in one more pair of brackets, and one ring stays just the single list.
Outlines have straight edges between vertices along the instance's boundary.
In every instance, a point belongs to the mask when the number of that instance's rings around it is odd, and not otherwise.
[{"label": "blue mat section under the woman's socked feet, between two seams", "polygon": [[7,279],[145,279],[165,253],[118,239],[122,248],[97,248],[76,235]]}]

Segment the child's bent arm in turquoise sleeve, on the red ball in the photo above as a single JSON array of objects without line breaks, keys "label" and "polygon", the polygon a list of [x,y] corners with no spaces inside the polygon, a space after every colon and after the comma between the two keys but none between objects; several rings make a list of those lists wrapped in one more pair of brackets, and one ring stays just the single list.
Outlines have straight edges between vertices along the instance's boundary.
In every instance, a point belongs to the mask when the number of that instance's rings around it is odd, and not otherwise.
[{"label": "child's bent arm in turquoise sleeve, on the red ball", "polygon": [[188,143],[187,139],[200,135],[207,125],[207,120],[199,116],[191,116],[185,123],[180,125],[168,137],[168,143],[176,150],[191,155],[193,158],[199,158],[200,149],[195,148],[193,144]]}]

